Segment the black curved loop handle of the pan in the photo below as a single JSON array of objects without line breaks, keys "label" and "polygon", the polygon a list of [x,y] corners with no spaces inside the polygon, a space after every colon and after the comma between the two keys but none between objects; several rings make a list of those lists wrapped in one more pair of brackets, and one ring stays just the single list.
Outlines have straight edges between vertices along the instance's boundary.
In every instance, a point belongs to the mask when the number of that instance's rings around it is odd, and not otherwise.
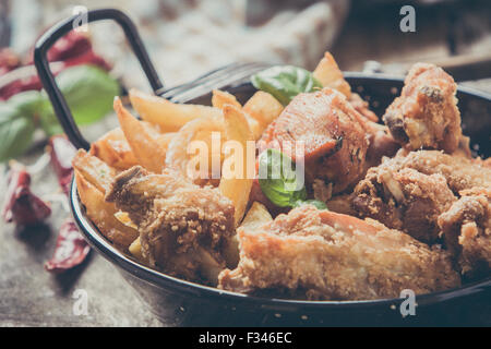
[{"label": "black curved loop handle of the pan", "polygon": [[[123,29],[133,52],[135,53],[140,64],[145,72],[148,82],[155,93],[161,91],[164,84],[160,82],[158,74],[149,60],[148,53],[143,46],[142,39],[137,33],[136,26],[130,17],[123,12],[116,9],[99,9],[87,12],[87,22],[96,22],[101,20],[113,20]],[[73,115],[64,99],[60,88],[58,87],[55,76],[49,69],[47,58],[48,50],[62,36],[72,31],[79,21],[79,15],[73,15],[48,29],[36,43],[34,48],[34,64],[46,93],[51,100],[55,112],[60,121],[63,131],[67,133],[70,142],[77,148],[88,151],[91,143],[85,140],[76,125]]]}]

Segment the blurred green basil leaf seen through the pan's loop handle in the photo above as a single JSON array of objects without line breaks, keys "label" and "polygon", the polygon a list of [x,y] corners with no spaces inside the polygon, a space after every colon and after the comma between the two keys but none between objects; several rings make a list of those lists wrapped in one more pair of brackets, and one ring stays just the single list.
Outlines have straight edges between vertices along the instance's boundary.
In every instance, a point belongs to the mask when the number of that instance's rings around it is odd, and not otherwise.
[{"label": "blurred green basil leaf seen through the pan's loop handle", "polygon": [[57,76],[57,83],[77,124],[88,124],[106,116],[120,93],[118,82],[94,65],[68,68]]}]

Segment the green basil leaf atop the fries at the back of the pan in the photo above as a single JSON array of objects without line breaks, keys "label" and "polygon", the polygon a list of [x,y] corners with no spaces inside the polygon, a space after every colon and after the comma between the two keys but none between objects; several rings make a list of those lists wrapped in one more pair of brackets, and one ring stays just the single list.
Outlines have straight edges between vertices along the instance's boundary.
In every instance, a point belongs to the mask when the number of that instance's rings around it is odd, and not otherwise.
[{"label": "green basil leaf atop the fries at the back of the pan", "polygon": [[300,93],[322,88],[321,82],[311,72],[292,65],[272,67],[252,75],[251,82],[255,88],[272,94],[284,106]]}]

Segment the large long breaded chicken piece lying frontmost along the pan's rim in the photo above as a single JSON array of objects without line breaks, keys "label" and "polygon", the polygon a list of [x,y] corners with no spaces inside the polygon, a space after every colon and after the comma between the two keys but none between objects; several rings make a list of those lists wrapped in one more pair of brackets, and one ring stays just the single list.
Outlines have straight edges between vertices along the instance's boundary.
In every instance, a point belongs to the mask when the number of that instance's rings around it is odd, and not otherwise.
[{"label": "large long breaded chicken piece lying frontmost along the pan's rim", "polygon": [[238,237],[239,265],[219,275],[218,287],[226,290],[287,289],[311,300],[362,300],[460,282],[445,251],[374,220],[309,205],[255,231],[239,229]]}]

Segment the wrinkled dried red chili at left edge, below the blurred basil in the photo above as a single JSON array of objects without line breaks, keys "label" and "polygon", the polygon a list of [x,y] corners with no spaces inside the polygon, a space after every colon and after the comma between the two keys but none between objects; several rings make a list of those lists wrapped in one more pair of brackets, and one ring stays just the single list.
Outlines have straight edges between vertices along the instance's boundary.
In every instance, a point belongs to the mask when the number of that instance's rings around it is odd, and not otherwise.
[{"label": "wrinkled dried red chili at left edge, below the blurred basil", "polygon": [[25,168],[19,164],[12,166],[2,209],[2,216],[7,222],[32,226],[39,224],[51,214],[49,205],[33,194],[29,185],[31,176]]}]

